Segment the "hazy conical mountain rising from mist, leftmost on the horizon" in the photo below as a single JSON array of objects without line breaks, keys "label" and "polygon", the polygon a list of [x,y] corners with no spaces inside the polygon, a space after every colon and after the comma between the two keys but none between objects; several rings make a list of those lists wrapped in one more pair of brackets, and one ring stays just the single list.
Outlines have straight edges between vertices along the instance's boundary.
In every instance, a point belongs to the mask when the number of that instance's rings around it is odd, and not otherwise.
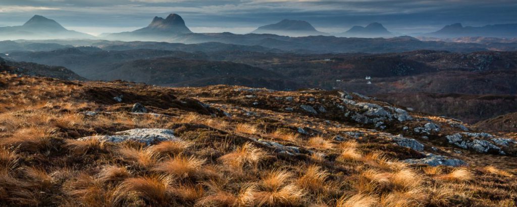
[{"label": "hazy conical mountain rising from mist, leftmost on the horizon", "polygon": [[66,29],[54,20],[35,15],[21,26],[0,27],[0,40],[12,39],[85,39],[92,35]]}]

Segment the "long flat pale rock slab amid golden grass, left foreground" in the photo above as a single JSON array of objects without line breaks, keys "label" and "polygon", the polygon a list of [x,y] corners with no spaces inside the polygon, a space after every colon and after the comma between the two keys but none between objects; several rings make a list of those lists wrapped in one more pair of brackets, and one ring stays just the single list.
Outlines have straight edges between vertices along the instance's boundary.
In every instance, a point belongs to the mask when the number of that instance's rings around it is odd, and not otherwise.
[{"label": "long flat pale rock slab amid golden grass, left foreground", "polygon": [[174,131],[171,129],[130,129],[127,131],[116,132],[113,136],[94,136],[94,137],[83,137],[79,140],[88,140],[97,138],[105,142],[124,142],[124,141],[136,141],[145,143],[147,145],[162,142],[162,141],[178,141],[179,139],[174,136]]}]

